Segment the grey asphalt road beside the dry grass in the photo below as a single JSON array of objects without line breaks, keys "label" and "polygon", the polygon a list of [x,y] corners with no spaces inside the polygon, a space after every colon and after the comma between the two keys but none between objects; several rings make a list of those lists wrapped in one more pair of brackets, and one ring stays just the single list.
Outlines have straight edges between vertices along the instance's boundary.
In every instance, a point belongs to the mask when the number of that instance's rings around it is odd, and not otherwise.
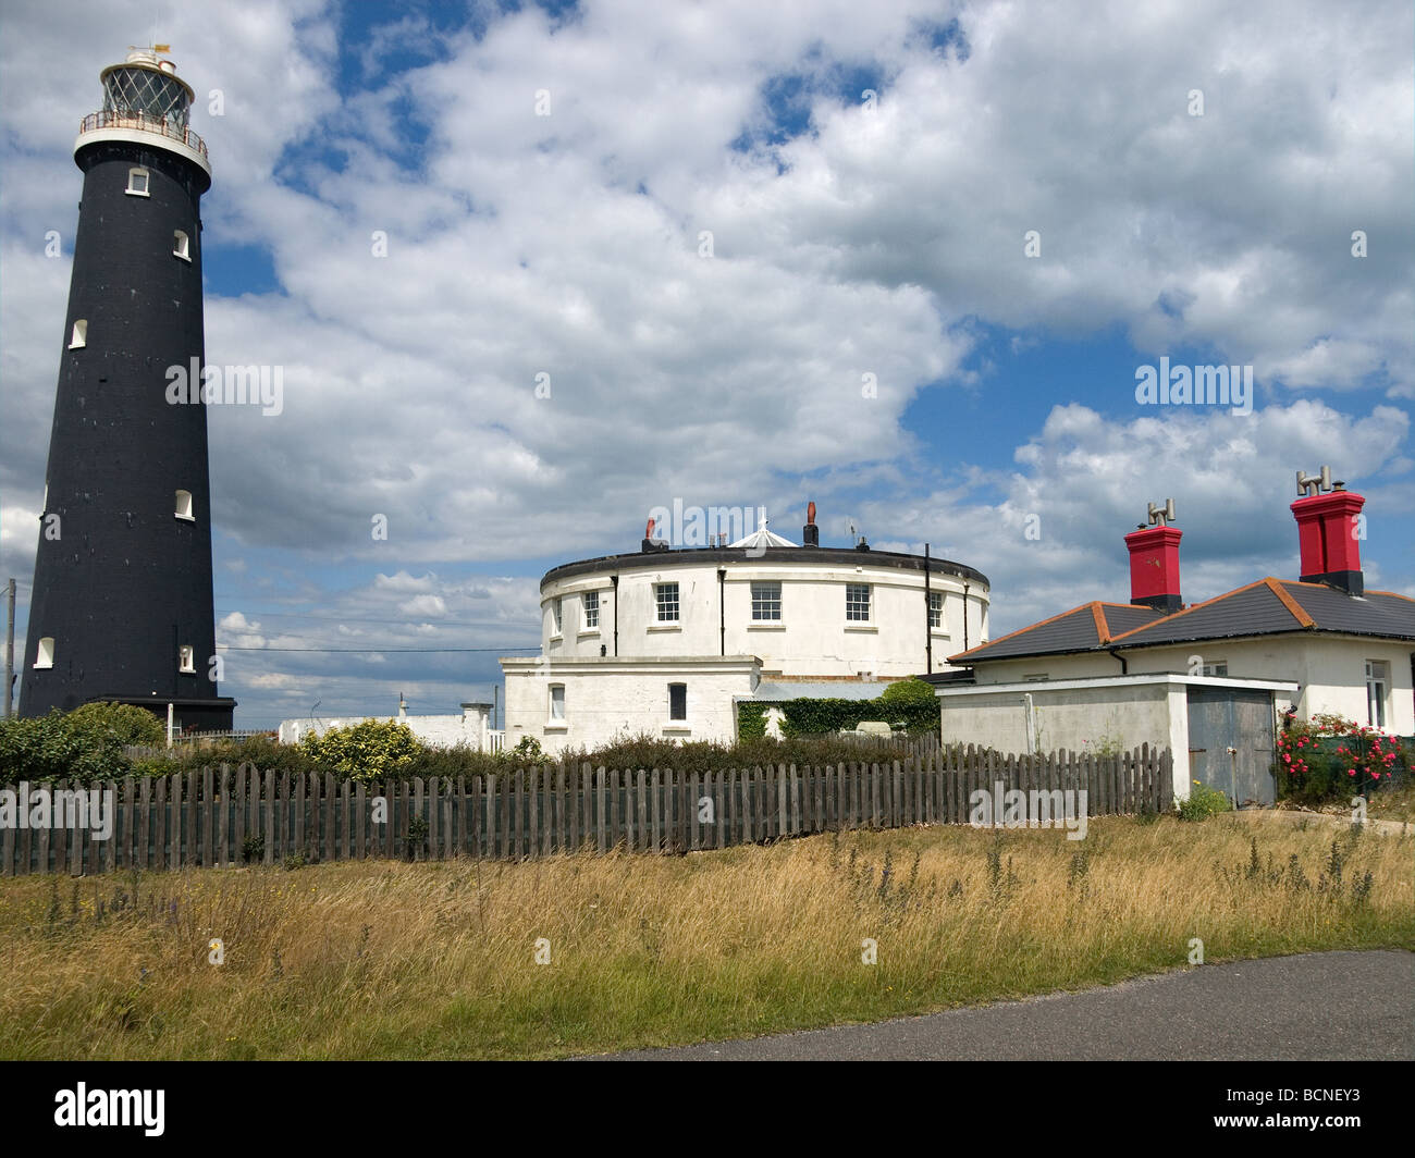
[{"label": "grey asphalt road beside the dry grass", "polygon": [[1415,953],[1204,965],[1078,994],[606,1059],[1409,1060]]}]

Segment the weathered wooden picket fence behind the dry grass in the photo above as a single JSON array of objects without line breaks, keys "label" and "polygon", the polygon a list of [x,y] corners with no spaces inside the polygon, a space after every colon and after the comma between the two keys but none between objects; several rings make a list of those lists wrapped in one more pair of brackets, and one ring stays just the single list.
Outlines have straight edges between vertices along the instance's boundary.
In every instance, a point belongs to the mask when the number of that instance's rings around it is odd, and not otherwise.
[{"label": "weathered wooden picket fence behind the dry grass", "polygon": [[1172,798],[1172,759],[1148,745],[1109,757],[966,747],[884,763],[708,773],[562,763],[382,786],[222,764],[92,786],[113,793],[108,839],[92,828],[0,828],[0,875],[232,868],[291,856],[524,859],[618,845],[688,852],[833,830],[966,824],[971,793],[998,781],[1006,790],[1085,790],[1092,817],[1160,811]]}]

